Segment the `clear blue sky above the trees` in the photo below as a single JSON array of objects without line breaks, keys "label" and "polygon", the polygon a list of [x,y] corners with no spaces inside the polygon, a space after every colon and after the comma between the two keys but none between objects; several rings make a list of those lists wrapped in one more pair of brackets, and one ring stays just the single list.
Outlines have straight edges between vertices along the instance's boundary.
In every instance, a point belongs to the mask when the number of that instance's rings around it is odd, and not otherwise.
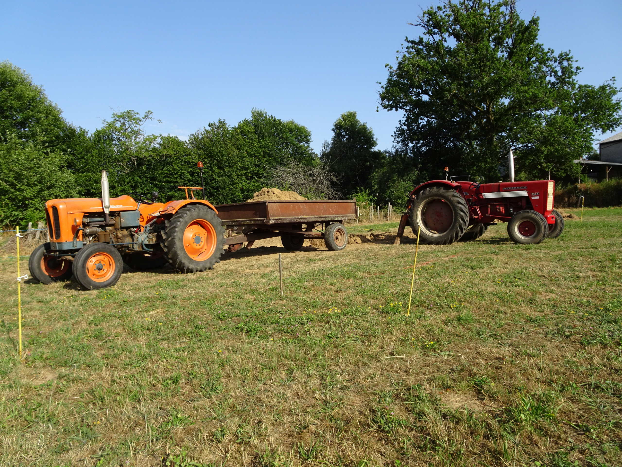
[{"label": "clear blue sky above the trees", "polygon": [[[318,150],[338,116],[356,110],[384,149],[399,115],[376,112],[377,82],[404,37],[419,35],[407,23],[436,3],[4,2],[0,60],[24,68],[67,120],[90,131],[113,110],[152,110],[162,123],[147,131],[185,138],[262,108],[307,126]],[[572,51],[580,82],[616,76],[622,85],[620,0],[518,7],[541,17],[544,45]]]}]

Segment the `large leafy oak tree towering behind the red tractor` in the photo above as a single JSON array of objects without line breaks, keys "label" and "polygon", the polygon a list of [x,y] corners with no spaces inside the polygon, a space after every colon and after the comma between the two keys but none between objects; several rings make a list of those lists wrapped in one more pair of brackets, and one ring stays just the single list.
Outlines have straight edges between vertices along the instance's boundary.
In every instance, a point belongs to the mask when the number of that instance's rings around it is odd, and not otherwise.
[{"label": "large leafy oak tree towering behind the red tractor", "polygon": [[394,137],[422,174],[496,181],[512,147],[522,177],[575,176],[593,133],[622,125],[615,78],[579,84],[570,52],[540,44],[539,18],[521,19],[513,0],[445,1],[412,26],[422,35],[387,65],[380,98],[403,112]]}]

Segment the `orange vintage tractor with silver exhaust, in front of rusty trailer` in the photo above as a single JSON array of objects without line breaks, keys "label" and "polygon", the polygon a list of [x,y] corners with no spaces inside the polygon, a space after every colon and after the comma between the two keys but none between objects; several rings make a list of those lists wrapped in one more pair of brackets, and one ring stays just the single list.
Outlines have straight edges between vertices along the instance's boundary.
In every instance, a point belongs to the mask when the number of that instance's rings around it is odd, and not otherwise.
[{"label": "orange vintage tractor with silver exhaust, in front of rusty trailer", "polygon": [[124,262],[138,270],[166,262],[184,273],[211,269],[220,262],[225,229],[216,208],[195,198],[194,191],[201,188],[179,188],[185,189],[186,199],[161,203],[157,192],[111,199],[104,171],[101,199],[49,200],[50,241],[30,255],[30,275],[45,284],[73,275],[93,290],[114,285]]}]

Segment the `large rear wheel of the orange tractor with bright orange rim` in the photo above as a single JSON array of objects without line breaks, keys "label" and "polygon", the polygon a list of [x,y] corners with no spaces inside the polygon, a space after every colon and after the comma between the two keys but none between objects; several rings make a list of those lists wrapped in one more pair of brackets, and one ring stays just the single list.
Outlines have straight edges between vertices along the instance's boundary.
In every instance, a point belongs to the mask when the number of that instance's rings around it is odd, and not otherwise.
[{"label": "large rear wheel of the orange tractor with bright orange rim", "polygon": [[182,207],[166,223],[162,249],[182,273],[205,271],[220,263],[225,229],[216,213],[202,204]]}]

